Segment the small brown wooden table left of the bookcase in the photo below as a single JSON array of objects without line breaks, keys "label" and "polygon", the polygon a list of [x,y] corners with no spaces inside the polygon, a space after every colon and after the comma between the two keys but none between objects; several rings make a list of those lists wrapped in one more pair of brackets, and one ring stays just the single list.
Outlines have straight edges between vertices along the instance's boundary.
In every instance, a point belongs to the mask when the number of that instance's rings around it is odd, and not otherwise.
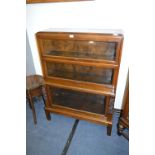
[{"label": "small brown wooden table left of the bookcase", "polygon": [[26,76],[26,98],[28,99],[30,108],[32,109],[35,124],[37,124],[37,118],[33,98],[37,96],[42,96],[45,104],[43,84],[43,78],[40,75]]}]

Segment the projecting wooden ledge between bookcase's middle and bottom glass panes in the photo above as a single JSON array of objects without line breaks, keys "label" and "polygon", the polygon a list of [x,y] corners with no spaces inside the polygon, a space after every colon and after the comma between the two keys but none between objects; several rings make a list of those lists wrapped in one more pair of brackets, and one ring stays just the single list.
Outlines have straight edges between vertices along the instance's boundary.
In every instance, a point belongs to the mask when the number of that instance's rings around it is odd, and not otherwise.
[{"label": "projecting wooden ledge between bookcase's middle and bottom glass panes", "polygon": [[105,95],[105,96],[115,96],[114,86],[112,85],[95,84],[95,83],[67,80],[54,77],[45,78],[45,84],[58,88],[70,89],[75,91],[77,90],[80,92]]}]

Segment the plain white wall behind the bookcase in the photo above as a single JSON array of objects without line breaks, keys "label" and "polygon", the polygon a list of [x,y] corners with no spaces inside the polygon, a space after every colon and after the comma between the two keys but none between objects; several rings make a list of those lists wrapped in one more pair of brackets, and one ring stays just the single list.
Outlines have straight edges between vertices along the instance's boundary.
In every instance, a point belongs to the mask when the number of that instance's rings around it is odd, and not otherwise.
[{"label": "plain white wall behind the bookcase", "polygon": [[[120,5],[121,4],[121,5]],[[123,0],[95,0],[85,2],[59,2],[28,4],[27,33],[37,74],[42,74],[36,47],[35,33],[48,28],[100,28],[122,29],[125,34],[122,62],[117,86],[115,108],[120,109],[128,68],[125,2]]]}]

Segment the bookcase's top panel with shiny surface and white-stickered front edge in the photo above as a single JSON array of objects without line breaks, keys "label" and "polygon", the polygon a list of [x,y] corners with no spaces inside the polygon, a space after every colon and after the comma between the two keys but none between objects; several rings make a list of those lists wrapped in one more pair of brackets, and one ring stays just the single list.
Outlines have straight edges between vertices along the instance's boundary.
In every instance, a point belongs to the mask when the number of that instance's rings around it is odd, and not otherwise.
[{"label": "bookcase's top panel with shiny surface and white-stickered front edge", "polygon": [[120,42],[123,34],[119,30],[52,29],[36,33],[38,39],[93,40]]}]

